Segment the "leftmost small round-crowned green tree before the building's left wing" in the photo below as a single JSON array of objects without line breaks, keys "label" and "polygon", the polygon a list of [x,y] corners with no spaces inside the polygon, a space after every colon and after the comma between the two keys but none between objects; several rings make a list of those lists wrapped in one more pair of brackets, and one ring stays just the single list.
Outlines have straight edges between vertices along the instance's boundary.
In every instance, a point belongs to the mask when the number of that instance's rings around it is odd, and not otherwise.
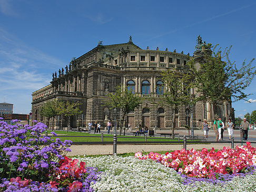
[{"label": "leftmost small round-crowned green tree before the building's left wing", "polygon": [[54,117],[60,114],[62,102],[60,100],[53,100],[52,102],[47,102],[41,107],[41,115],[47,118],[47,127],[50,126],[50,119],[52,118],[52,130]]}]

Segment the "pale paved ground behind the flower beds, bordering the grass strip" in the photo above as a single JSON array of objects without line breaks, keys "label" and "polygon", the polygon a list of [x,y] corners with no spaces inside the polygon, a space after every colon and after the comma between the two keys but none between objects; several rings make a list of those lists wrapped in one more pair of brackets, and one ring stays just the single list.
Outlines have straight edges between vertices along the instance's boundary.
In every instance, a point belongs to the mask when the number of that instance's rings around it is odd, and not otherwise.
[{"label": "pale paved ground behind the flower beds, bordering the grass strip", "polygon": [[[157,131],[156,133],[160,132],[170,132],[171,131]],[[105,134],[106,132],[103,131]],[[175,133],[179,133],[180,136],[188,136],[188,130],[176,130]],[[129,134],[129,132],[127,132]],[[194,135],[199,136],[199,138],[203,138],[203,132],[201,130],[194,130]],[[248,142],[256,142],[256,130],[249,130],[248,134]],[[182,137],[181,137],[182,138]],[[234,130],[234,140],[239,142],[240,141],[240,130]],[[118,140],[117,140],[118,141]],[[215,131],[210,130],[209,132],[209,139],[208,142],[210,144],[188,144],[187,149],[211,149],[214,147],[215,149],[222,149],[224,146],[231,147],[231,143],[229,142],[228,131],[224,131],[224,139],[219,143],[211,143],[215,141]],[[245,145],[245,141],[243,141]],[[240,145],[240,143],[235,143],[236,145]],[[256,144],[252,143],[253,147],[256,147]],[[180,150],[183,148],[182,144],[176,145],[117,145],[117,154],[122,153],[135,153],[137,151],[166,151],[166,150]],[[74,156],[74,155],[109,155],[113,153],[113,145],[72,145],[70,147],[71,152],[67,153],[67,156]]]}]

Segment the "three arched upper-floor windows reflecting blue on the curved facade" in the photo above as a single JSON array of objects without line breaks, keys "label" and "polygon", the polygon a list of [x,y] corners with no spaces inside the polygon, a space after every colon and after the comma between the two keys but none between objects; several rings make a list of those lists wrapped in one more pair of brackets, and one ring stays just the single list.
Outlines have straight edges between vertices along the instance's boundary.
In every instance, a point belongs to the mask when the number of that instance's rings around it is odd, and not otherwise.
[{"label": "three arched upper-floor windows reflecting blue on the curved facade", "polygon": [[[132,93],[135,93],[135,83],[133,80],[129,80],[126,84],[127,89],[131,90]],[[156,94],[162,95],[163,94],[163,82],[161,80],[158,80],[156,82]],[[150,94],[150,82],[148,80],[143,80],[142,86],[141,86],[141,93],[143,95],[149,95]]]}]

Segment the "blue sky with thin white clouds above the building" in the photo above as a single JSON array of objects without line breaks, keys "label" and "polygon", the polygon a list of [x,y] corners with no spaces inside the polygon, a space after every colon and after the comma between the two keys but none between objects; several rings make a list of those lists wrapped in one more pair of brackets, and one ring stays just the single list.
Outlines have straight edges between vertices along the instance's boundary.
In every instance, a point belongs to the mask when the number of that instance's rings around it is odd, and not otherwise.
[{"label": "blue sky with thin white clouds above the building", "polygon": [[[0,102],[29,113],[32,92],[72,57],[103,45],[133,43],[185,54],[200,34],[206,43],[232,45],[239,66],[256,57],[255,1],[25,1],[0,0]],[[255,66],[255,63],[253,65]],[[256,80],[235,116],[256,110]]]}]

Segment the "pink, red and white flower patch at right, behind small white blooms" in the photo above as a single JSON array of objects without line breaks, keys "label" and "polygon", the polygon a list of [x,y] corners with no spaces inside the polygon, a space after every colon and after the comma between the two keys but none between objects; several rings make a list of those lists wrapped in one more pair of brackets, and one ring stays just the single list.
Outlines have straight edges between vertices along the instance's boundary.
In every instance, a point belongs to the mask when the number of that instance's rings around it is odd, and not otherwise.
[{"label": "pink, red and white flower patch at right, behind small white blooms", "polygon": [[209,179],[218,178],[218,174],[244,173],[247,166],[256,166],[256,149],[249,142],[246,146],[235,149],[224,147],[217,152],[214,148],[210,151],[205,148],[201,151],[181,149],[165,155],[151,152],[142,156],[141,152],[137,152],[135,157],[156,160],[189,177]]}]

